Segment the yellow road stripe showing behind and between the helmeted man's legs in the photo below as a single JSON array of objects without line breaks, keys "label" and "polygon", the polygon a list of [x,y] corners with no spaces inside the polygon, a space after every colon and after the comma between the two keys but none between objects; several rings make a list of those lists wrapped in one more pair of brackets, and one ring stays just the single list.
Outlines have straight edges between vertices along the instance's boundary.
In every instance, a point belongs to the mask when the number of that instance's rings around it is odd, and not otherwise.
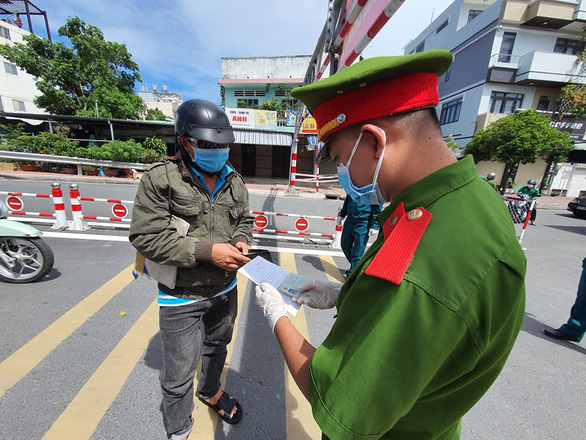
[{"label": "yellow road stripe showing behind and between the helmeted man's legs", "polygon": [[[232,336],[232,342],[228,344],[228,354],[226,355],[226,362],[224,364],[224,371],[222,372],[222,386],[223,389],[227,388],[227,391],[230,392],[230,386],[226,385],[226,375],[228,374],[228,370],[230,369],[230,360],[232,358],[232,351],[234,348],[234,340],[236,339],[236,335],[238,334],[238,322],[240,321],[240,312],[242,311],[242,304],[244,294],[246,293],[246,286],[247,286],[248,279],[241,274],[238,274],[238,318],[236,318],[236,322],[234,323],[234,332]],[[198,366],[197,375],[199,376],[199,370],[201,368],[201,360]],[[194,387],[197,389],[197,387]],[[234,396],[238,399],[238,396]],[[197,396],[194,395],[195,401],[195,410],[192,413],[192,417],[194,420],[194,428],[191,431],[191,435],[189,436],[189,440],[209,440],[214,438],[214,434],[216,432],[216,426],[218,425],[218,415],[214,410],[205,406],[203,403],[199,401]]]}]

